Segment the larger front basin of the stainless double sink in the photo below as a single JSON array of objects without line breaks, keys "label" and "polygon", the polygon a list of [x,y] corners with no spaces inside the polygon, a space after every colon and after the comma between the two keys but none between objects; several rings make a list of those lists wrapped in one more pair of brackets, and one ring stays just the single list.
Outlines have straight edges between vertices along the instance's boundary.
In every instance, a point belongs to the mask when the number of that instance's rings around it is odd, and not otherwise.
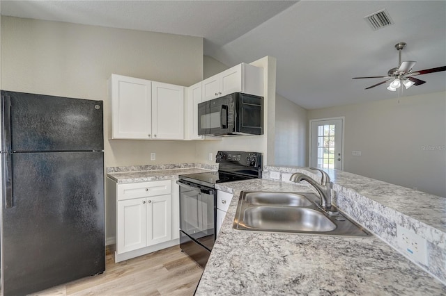
[{"label": "larger front basin of the stainless double sink", "polygon": [[252,206],[243,213],[245,227],[275,231],[332,231],[336,225],[311,208]]}]

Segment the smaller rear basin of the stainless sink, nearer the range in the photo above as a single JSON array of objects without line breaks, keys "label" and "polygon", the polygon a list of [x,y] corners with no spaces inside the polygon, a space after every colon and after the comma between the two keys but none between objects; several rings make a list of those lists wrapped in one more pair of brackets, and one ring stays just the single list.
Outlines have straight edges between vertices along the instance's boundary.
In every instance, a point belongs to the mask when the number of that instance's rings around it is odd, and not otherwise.
[{"label": "smaller rear basin of the stainless sink, nearer the range", "polygon": [[310,206],[310,202],[304,195],[289,192],[249,192],[245,199],[252,205],[272,206]]}]

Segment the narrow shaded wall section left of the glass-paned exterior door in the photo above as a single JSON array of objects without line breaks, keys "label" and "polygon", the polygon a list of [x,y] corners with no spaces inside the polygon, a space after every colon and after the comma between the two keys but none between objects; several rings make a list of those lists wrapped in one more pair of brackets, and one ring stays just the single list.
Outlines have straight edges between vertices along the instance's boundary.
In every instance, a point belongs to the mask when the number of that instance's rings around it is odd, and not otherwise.
[{"label": "narrow shaded wall section left of the glass-paned exterior door", "polygon": [[307,110],[276,94],[275,165],[307,166]]}]

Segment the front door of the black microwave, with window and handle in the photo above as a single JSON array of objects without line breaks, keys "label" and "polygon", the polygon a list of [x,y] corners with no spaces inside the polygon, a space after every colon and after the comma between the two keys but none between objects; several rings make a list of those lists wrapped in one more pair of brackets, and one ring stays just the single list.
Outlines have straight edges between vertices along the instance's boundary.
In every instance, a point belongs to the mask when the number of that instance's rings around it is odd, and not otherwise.
[{"label": "front door of the black microwave, with window and handle", "polygon": [[198,104],[198,134],[218,135],[233,132],[234,110],[232,94]]}]

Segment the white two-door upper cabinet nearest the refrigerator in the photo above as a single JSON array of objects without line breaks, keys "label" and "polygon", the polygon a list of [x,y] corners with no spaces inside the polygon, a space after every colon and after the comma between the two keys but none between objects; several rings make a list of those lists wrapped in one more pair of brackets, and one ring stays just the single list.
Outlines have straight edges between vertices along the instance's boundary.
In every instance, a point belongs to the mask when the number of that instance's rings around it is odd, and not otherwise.
[{"label": "white two-door upper cabinet nearest the refrigerator", "polygon": [[184,87],[112,74],[112,138],[183,140]]}]

